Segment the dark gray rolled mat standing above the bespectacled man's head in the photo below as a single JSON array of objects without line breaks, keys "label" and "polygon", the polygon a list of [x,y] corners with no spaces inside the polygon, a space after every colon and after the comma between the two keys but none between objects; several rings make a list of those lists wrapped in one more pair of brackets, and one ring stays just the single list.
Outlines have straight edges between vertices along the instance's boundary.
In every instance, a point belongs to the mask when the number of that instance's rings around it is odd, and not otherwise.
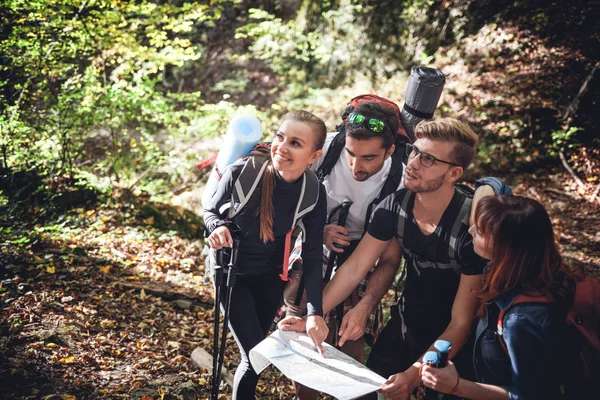
[{"label": "dark gray rolled mat standing above the bespectacled man's head", "polygon": [[400,117],[404,129],[413,141],[415,126],[425,119],[433,118],[445,83],[446,76],[439,69],[412,67]]}]

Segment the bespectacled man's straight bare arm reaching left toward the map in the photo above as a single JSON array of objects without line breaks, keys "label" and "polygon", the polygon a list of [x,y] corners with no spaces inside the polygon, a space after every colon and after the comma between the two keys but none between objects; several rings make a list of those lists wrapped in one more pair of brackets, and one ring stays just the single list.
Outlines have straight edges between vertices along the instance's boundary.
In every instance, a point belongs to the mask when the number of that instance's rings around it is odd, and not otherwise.
[{"label": "bespectacled man's straight bare arm reaching left toward the map", "polygon": [[375,265],[391,240],[378,240],[365,233],[352,255],[338,267],[333,279],[325,287],[323,291],[324,313],[328,313],[350,296],[371,267]]}]

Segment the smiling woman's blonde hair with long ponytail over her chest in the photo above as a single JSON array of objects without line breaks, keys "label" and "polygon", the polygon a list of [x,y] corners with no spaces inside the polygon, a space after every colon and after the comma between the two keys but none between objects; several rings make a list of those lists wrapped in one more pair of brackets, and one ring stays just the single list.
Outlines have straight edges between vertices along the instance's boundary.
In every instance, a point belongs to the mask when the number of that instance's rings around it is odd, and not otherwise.
[{"label": "smiling woman's blonde hair with long ponytail over her chest", "polygon": [[[314,151],[321,150],[327,138],[327,127],[323,120],[312,113],[304,110],[290,111],[284,115],[281,122],[286,120],[303,122],[312,127],[315,134]],[[269,155],[270,157],[270,155]],[[260,238],[264,243],[275,240],[273,234],[273,190],[275,188],[275,168],[273,161],[269,159],[262,178],[262,190],[260,197]]]}]

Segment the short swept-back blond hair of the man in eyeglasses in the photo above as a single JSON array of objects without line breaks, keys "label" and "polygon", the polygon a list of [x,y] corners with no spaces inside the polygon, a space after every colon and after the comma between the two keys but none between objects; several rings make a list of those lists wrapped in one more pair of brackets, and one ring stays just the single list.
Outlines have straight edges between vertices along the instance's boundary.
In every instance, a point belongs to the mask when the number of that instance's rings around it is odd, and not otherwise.
[{"label": "short swept-back blond hair of the man in eyeglasses", "polygon": [[415,128],[417,139],[426,138],[442,142],[451,142],[452,161],[463,169],[467,168],[475,157],[479,137],[465,123],[454,118],[439,118],[433,121],[421,121]]}]

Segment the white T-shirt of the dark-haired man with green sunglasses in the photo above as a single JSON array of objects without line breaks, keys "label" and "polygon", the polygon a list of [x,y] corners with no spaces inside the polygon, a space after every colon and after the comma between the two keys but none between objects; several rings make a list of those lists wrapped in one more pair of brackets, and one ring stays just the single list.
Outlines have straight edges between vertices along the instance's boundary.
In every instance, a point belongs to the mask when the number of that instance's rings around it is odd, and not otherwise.
[{"label": "white T-shirt of the dark-haired man with green sunglasses", "polygon": [[[313,165],[313,171],[316,171],[321,164],[331,142],[338,132],[330,132],[327,134],[325,145],[323,146],[323,155]],[[331,211],[342,204],[344,200],[351,200],[353,202],[350,207],[348,218],[346,219],[346,228],[348,228],[348,237],[350,240],[360,239],[365,228],[365,220],[368,218],[367,210],[369,205],[377,198],[392,166],[392,158],[388,157],[385,160],[383,167],[373,176],[369,177],[366,181],[359,182],[354,179],[348,160],[346,158],[346,149],[343,149],[340,157],[338,158],[335,166],[331,170],[331,173],[323,180],[325,186],[325,192],[327,193],[327,215]],[[398,188],[404,186],[404,175],[400,181]],[[337,216],[334,217],[334,221],[337,220]]]}]

